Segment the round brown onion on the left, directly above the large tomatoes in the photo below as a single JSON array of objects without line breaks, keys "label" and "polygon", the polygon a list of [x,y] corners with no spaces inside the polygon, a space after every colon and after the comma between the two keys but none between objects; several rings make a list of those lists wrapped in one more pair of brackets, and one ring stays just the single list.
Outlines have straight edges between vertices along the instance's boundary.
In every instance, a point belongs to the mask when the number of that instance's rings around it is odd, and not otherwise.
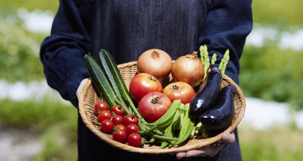
[{"label": "round brown onion on the left, directly above the large tomatoes", "polygon": [[149,49],[139,56],[137,71],[148,73],[162,81],[169,75],[172,65],[172,59],[165,51]]}]

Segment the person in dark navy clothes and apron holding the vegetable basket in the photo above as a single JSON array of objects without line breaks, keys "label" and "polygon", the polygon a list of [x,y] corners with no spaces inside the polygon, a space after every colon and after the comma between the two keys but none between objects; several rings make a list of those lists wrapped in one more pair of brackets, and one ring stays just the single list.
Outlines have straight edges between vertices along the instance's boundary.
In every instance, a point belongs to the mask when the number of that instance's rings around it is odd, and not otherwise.
[{"label": "person in dark navy clothes and apron holding the vegetable basket", "polygon": [[[206,44],[210,56],[218,55],[217,65],[230,50],[225,74],[238,84],[239,58],[251,28],[250,0],[60,0],[40,58],[48,85],[77,108],[76,92],[89,77],[83,60],[87,53],[96,57],[106,49],[120,64],[159,48],[174,60]],[[216,148],[176,154],[133,153],[104,143],[78,119],[79,160],[241,160],[237,130],[225,133],[222,141]]]}]

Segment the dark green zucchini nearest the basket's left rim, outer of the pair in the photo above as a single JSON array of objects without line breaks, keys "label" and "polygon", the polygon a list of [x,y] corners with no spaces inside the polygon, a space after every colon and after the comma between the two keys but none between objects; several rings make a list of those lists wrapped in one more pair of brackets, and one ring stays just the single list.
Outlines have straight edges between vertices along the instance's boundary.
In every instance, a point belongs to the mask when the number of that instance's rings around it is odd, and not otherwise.
[{"label": "dark green zucchini nearest the basket's left rim, outer of the pair", "polygon": [[111,107],[115,106],[115,98],[117,95],[109,83],[104,71],[100,68],[95,59],[90,55],[84,55],[84,61],[86,63],[89,75],[91,77],[92,83],[95,86],[99,96],[103,96],[105,101]]}]

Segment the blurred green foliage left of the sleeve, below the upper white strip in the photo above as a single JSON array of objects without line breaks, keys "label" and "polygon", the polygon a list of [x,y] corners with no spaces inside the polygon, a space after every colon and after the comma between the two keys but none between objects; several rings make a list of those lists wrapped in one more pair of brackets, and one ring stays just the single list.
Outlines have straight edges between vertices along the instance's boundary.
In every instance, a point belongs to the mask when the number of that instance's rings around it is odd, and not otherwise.
[{"label": "blurred green foliage left of the sleeve, below the upper white strip", "polygon": [[39,59],[42,36],[26,32],[15,20],[0,19],[1,78],[9,82],[40,80],[44,77]]}]

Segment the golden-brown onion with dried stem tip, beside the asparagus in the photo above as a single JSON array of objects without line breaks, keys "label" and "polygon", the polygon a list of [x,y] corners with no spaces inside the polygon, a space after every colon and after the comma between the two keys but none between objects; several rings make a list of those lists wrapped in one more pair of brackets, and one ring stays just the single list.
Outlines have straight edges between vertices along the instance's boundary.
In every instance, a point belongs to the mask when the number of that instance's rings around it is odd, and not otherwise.
[{"label": "golden-brown onion with dried stem tip, beside the asparagus", "polygon": [[174,82],[186,82],[192,88],[197,87],[204,77],[204,67],[197,52],[179,57],[172,66]]}]

